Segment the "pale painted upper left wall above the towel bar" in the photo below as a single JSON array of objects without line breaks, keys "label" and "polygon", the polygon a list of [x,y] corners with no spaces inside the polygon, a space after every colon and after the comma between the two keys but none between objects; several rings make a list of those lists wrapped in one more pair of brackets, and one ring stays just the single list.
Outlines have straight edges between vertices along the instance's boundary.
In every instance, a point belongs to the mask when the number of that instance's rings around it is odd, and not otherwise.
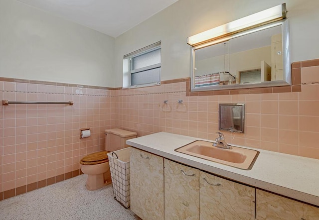
[{"label": "pale painted upper left wall above the towel bar", "polygon": [[115,39],[0,0],[0,77],[114,87]]}]

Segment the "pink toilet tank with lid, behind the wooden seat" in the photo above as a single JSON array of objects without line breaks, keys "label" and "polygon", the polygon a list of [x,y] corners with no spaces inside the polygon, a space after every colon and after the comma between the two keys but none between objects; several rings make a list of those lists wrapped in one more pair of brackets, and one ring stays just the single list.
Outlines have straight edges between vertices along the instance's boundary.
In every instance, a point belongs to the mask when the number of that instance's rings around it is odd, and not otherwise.
[{"label": "pink toilet tank with lid, behind the wooden seat", "polygon": [[135,138],[137,135],[136,132],[119,128],[106,129],[105,134],[105,150],[110,152],[129,147],[126,140]]}]

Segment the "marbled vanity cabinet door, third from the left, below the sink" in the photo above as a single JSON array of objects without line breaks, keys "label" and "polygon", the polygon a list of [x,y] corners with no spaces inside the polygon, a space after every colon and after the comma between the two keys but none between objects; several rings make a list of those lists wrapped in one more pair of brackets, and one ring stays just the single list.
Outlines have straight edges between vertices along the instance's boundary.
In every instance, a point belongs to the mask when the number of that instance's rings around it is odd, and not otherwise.
[{"label": "marbled vanity cabinet door, third from the left, below the sink", "polygon": [[200,171],[200,219],[255,219],[255,188]]}]

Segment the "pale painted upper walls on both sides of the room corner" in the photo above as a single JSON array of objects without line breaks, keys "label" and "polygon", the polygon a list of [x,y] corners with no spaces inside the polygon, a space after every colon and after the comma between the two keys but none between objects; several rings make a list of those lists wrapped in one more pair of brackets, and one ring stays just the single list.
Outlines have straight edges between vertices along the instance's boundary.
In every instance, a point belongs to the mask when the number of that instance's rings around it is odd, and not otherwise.
[{"label": "pale painted upper walls on both sides of the room corner", "polygon": [[178,0],[116,39],[0,0],[0,77],[121,87],[123,55],[159,40],[161,80],[189,77],[188,36],[284,2],[292,62],[319,58],[319,0]]}]

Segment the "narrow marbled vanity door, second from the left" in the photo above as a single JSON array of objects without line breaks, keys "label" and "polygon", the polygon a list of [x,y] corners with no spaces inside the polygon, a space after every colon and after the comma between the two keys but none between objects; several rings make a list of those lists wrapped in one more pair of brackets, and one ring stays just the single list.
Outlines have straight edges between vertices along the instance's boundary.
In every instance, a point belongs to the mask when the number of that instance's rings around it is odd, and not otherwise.
[{"label": "narrow marbled vanity door, second from the left", "polygon": [[199,170],[164,159],[165,220],[199,219]]}]

